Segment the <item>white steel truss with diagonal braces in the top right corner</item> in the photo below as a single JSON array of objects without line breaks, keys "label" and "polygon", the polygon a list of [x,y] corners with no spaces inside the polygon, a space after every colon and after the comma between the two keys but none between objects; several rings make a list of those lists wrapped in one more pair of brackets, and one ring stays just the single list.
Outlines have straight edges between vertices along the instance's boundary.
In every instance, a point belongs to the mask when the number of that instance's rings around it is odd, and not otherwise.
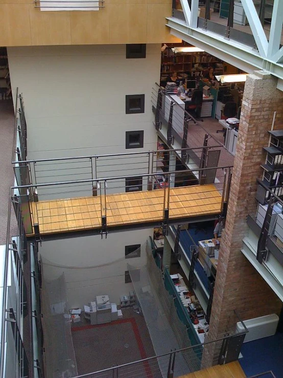
[{"label": "white steel truss with diagonal braces in the top right corner", "polygon": [[[197,27],[199,0],[180,0],[185,21],[175,17],[167,18],[171,34],[210,53],[218,52],[223,60],[239,66],[247,72],[261,69],[283,80],[283,47],[280,39],[283,24],[283,0],[274,0],[269,40],[252,0],[241,0],[258,51],[237,41],[227,39]],[[278,82],[278,84],[279,84]]]}]

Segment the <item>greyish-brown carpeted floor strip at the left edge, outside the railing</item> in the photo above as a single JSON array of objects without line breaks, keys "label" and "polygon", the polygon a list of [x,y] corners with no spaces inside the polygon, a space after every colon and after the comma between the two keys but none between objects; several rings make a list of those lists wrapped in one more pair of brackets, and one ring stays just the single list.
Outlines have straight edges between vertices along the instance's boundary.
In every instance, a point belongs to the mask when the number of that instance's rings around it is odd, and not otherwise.
[{"label": "greyish-brown carpeted floor strip at the left edge, outside the railing", "polygon": [[[13,102],[0,101],[0,245],[6,244],[9,188],[14,185],[11,164],[15,116]],[[14,210],[11,216],[11,235],[16,235]]]}]

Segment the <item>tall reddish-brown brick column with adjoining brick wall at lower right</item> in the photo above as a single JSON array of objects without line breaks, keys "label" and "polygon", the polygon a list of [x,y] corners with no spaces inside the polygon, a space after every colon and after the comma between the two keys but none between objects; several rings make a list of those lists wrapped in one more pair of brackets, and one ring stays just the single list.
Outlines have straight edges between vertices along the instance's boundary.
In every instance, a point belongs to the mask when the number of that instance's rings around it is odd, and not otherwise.
[{"label": "tall reddish-brown brick column with adjoining brick wall at lower right", "polygon": [[[280,313],[282,302],[241,253],[247,234],[246,217],[256,210],[256,179],[261,178],[274,111],[274,129],[283,128],[283,93],[277,80],[263,71],[249,75],[245,85],[230,199],[222,233],[208,340],[224,336],[234,326],[233,309],[243,320]],[[208,341],[207,340],[207,341]],[[206,348],[203,366],[213,364],[219,348]],[[217,360],[214,361],[217,363]]]}]

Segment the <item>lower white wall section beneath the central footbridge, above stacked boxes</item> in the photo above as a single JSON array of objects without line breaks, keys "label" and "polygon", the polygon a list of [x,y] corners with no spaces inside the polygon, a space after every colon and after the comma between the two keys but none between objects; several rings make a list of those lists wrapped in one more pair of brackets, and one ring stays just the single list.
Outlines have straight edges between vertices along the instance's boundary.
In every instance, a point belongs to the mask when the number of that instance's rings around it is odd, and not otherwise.
[{"label": "lower white wall section beneath the central footbridge, above stacked boxes", "polygon": [[43,266],[44,277],[55,279],[64,272],[69,307],[82,307],[103,294],[120,303],[120,296],[133,290],[131,283],[125,283],[127,263],[137,267],[146,263],[145,249],[140,257],[125,259],[125,246],[143,246],[150,235],[152,229],[109,233],[107,239],[86,236],[44,241],[39,253],[51,262]]}]

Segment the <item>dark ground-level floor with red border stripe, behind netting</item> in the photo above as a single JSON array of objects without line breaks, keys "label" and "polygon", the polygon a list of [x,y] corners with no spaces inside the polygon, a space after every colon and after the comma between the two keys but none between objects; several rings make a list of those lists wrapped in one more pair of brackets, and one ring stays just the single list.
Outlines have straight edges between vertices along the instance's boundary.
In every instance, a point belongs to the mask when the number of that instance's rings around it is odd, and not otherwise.
[{"label": "dark ground-level floor with red border stripe, behind netting", "polygon": [[[86,374],[117,365],[146,359],[155,355],[143,315],[132,308],[123,308],[123,319],[111,323],[90,325],[82,321],[72,324],[72,338],[78,373]],[[161,378],[156,359],[129,365],[119,371],[119,377],[143,376]],[[140,375],[141,374],[141,375]]]}]

